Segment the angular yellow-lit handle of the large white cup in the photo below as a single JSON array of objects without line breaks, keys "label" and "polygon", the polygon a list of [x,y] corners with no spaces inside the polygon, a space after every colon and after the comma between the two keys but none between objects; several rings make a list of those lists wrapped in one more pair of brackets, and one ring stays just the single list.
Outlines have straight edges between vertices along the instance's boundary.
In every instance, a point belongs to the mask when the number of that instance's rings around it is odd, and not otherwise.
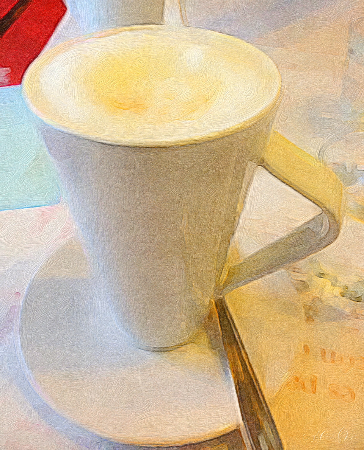
[{"label": "angular yellow-lit handle of the large white cup", "polygon": [[314,202],[322,212],[284,238],[229,267],[216,288],[215,298],[318,252],[339,233],[342,184],[333,171],[276,131],[272,132],[259,165]]}]

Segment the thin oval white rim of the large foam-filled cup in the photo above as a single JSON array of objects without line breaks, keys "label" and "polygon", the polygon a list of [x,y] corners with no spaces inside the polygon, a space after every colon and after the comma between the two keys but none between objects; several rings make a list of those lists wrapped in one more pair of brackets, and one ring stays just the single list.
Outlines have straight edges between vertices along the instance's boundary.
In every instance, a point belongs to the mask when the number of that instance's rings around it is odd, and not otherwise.
[{"label": "thin oval white rim of the large foam-filled cup", "polygon": [[[178,139],[178,138],[177,139],[161,139],[160,141],[155,141],[153,143],[150,143],[150,142],[146,142],[146,143],[143,143],[143,142],[130,143],[129,142],[128,143],[127,139],[123,139],[120,141],[112,141],[112,140],[108,140],[108,139],[99,138],[96,135],[88,135],[87,133],[83,133],[81,131],[75,130],[75,128],[63,126],[59,121],[53,119],[52,117],[49,117],[49,115],[40,111],[32,103],[32,101],[30,99],[30,95],[28,95],[28,90],[29,90],[28,85],[31,84],[31,78],[33,76],[33,72],[36,73],[38,67],[44,67],[48,62],[52,61],[55,56],[66,51],[73,45],[80,43],[80,42],[84,42],[89,39],[95,39],[95,38],[97,39],[97,38],[102,38],[102,37],[113,36],[113,35],[116,35],[116,34],[119,34],[121,32],[125,32],[125,31],[158,30],[158,29],[164,29],[164,30],[167,29],[167,30],[171,30],[171,31],[176,30],[176,29],[178,29],[179,31],[181,29],[186,29],[186,30],[192,30],[192,31],[206,33],[206,34],[211,34],[211,35],[218,35],[220,37],[223,36],[227,40],[230,39],[235,42],[236,41],[243,42],[245,45],[250,47],[250,49],[254,49],[254,51],[257,54],[260,54],[261,56],[266,58],[267,61],[269,61],[273,71],[276,72],[275,75],[276,75],[276,78],[278,81],[276,91],[274,92],[274,90],[272,90],[273,95],[263,104],[263,107],[260,108],[255,114],[253,114],[251,117],[248,117],[247,119],[245,119],[233,126],[228,126],[228,127],[224,128],[223,130],[212,131],[212,132],[206,133],[204,135],[197,135],[197,136],[183,138],[183,139]],[[221,33],[219,31],[211,31],[211,30],[206,30],[204,28],[197,28],[197,27],[170,26],[170,25],[132,25],[132,26],[126,26],[126,27],[117,27],[117,28],[112,28],[112,29],[103,30],[103,31],[96,31],[94,33],[90,33],[90,34],[87,34],[84,36],[76,37],[76,38],[74,38],[72,40],[68,40],[66,42],[62,42],[61,44],[58,44],[51,49],[48,49],[43,54],[41,54],[38,58],[36,58],[33,61],[33,63],[31,63],[31,65],[27,68],[27,70],[23,76],[23,80],[22,80],[22,95],[26,102],[27,107],[47,125],[50,125],[53,128],[63,131],[63,132],[66,132],[68,134],[75,135],[79,138],[90,140],[92,142],[99,142],[102,144],[117,145],[117,146],[132,147],[132,148],[133,147],[134,148],[179,147],[179,146],[183,146],[183,145],[200,144],[203,142],[209,142],[209,141],[212,141],[215,139],[221,139],[221,138],[227,137],[229,135],[233,135],[239,131],[250,128],[256,122],[258,122],[261,118],[266,116],[276,105],[276,103],[280,97],[280,94],[281,94],[281,74],[278,70],[278,67],[276,66],[276,63],[274,63],[274,61],[267,54],[265,54],[262,50],[258,49],[254,45],[251,45],[250,43],[248,43],[240,38],[237,38],[236,36],[231,36],[231,35],[228,35],[225,33]]]}]

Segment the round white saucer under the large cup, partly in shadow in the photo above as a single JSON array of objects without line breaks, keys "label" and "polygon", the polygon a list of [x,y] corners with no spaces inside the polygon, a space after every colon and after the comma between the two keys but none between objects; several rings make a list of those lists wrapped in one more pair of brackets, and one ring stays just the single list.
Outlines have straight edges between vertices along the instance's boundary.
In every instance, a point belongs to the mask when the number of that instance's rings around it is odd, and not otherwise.
[{"label": "round white saucer under the large cup, partly in shadow", "polygon": [[137,349],[92,292],[83,250],[70,241],[39,270],[22,304],[30,382],[53,410],[111,441],[136,445],[200,442],[238,427],[219,339],[202,334],[173,351]]}]

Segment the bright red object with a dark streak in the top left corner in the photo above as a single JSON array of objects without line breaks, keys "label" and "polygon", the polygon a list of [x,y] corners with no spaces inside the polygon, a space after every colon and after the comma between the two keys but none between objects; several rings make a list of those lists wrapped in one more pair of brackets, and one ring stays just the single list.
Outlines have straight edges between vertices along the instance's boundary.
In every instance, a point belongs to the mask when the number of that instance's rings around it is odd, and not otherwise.
[{"label": "bright red object with a dark streak in the top left corner", "polygon": [[0,86],[22,82],[66,12],[61,0],[22,0],[18,9],[17,4],[18,0],[0,0]]}]

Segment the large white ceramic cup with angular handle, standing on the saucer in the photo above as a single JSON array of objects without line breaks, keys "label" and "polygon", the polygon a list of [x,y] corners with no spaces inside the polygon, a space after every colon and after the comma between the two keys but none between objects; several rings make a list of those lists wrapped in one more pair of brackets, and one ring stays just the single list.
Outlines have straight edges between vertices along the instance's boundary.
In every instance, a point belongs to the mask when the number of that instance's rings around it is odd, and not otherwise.
[{"label": "large white ceramic cup with angular handle, standing on the saucer", "polygon": [[[85,45],[96,45],[97,50],[116,39],[115,48],[125,48],[118,39],[132,36],[141,36],[137,37],[140,42],[147,36],[154,45],[148,51],[166,58],[165,63],[158,66],[156,62],[155,69],[152,63],[148,69],[160,70],[161,80],[173,59],[167,49],[173,48],[176,58],[182,58],[174,76],[180,70],[183,81],[184,70],[202,72],[205,66],[201,63],[201,68],[198,61],[207,61],[208,80],[221,72],[225,76],[225,69],[231,68],[225,80],[228,88],[218,93],[202,119],[171,119],[165,128],[156,128],[157,121],[154,128],[142,124],[122,132],[118,124],[122,127],[124,122],[118,122],[119,116],[114,121],[110,115],[101,117],[98,110],[84,120],[81,112],[72,116],[69,102],[82,99],[77,100],[75,84],[62,78],[57,58],[63,61],[69,52],[65,67],[73,70],[72,64],[78,61],[75,67],[83,76],[88,71],[87,59],[85,64],[82,60]],[[192,58],[188,66],[183,58],[191,49],[200,59],[196,63]],[[246,91],[235,89],[234,74],[236,79],[250,74]],[[276,66],[258,49],[231,36],[189,27],[105,31],[57,46],[28,69],[25,97],[47,124],[44,138],[68,193],[93,276],[105,301],[114,304],[121,328],[139,347],[166,350],[188,342],[201,329],[216,295],[307,256],[336,237],[341,195],[337,179],[277,133],[271,136],[280,83]],[[54,91],[62,92],[57,100]],[[174,102],[183,102],[178,95]],[[234,266],[225,278],[224,265],[250,168],[258,164],[324,212],[275,246]],[[322,183],[320,177],[324,177]]]}]

